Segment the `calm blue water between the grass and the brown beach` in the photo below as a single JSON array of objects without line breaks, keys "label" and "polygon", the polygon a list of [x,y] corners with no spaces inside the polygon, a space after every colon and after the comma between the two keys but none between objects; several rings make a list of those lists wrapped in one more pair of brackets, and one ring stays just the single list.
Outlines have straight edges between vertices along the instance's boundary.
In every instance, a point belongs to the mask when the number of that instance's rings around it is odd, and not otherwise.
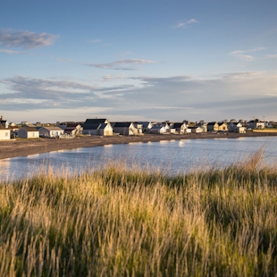
[{"label": "calm blue water between the grass and the brown beach", "polygon": [[240,139],[183,139],[105,147],[77,148],[39,155],[0,160],[0,180],[28,177],[49,166],[56,174],[83,172],[99,168],[109,161],[129,166],[140,164],[164,173],[184,173],[192,168],[225,166],[243,161],[264,148],[264,162],[276,164],[277,137]]}]

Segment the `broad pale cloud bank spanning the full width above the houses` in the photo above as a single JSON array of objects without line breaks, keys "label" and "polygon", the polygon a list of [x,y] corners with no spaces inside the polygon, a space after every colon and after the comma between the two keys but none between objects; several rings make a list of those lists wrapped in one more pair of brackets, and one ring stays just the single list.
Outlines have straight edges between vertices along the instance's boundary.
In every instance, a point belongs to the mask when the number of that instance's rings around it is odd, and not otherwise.
[{"label": "broad pale cloud bank spanning the full width above the houses", "polygon": [[[113,118],[146,120],[220,120],[248,118],[253,111],[276,114],[277,76],[261,71],[241,71],[199,79],[189,75],[153,77],[105,75],[112,82],[46,80],[24,76],[0,79],[0,110],[106,109]],[[161,108],[168,107],[168,108]],[[64,112],[65,113],[65,112]],[[103,116],[110,116],[103,113]],[[197,117],[196,118],[196,114]],[[250,114],[250,115],[249,115]],[[275,115],[274,115],[275,116]],[[201,118],[200,118],[201,117]]]}]

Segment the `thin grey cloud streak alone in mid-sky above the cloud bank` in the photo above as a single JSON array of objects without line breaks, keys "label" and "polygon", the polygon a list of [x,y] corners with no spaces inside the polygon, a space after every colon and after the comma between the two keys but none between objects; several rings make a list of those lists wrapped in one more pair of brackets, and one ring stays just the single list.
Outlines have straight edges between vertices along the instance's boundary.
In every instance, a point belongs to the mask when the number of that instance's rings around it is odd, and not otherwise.
[{"label": "thin grey cloud streak alone in mid-sky above the cloud bank", "polygon": [[102,69],[134,71],[136,69],[126,67],[124,65],[130,65],[130,64],[131,65],[139,65],[139,64],[151,64],[151,63],[155,63],[155,62],[154,61],[149,61],[149,60],[129,59],[129,60],[116,61],[116,62],[113,62],[113,63],[84,63],[84,64],[88,65],[88,66],[102,68]]}]

